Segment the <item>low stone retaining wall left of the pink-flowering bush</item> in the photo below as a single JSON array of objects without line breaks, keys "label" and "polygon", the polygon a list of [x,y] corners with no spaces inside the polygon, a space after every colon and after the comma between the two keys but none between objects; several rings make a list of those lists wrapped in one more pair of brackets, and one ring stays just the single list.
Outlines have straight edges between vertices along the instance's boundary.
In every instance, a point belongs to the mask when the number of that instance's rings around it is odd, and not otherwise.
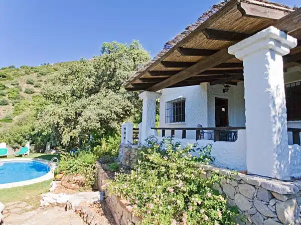
[{"label": "low stone retaining wall left of the pink-flowering bush", "polygon": [[102,188],[108,178],[108,174],[103,170],[101,164],[96,162],[96,181],[98,189],[104,191],[105,201],[110,208],[117,225],[134,225],[138,223],[141,219],[133,215],[133,208],[129,202],[121,200],[115,195],[109,196],[108,191]]}]

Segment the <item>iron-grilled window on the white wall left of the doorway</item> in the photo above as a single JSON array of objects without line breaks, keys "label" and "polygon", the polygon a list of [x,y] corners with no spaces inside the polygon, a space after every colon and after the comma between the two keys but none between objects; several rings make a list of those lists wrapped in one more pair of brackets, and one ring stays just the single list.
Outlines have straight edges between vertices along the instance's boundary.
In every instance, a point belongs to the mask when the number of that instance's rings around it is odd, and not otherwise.
[{"label": "iron-grilled window on the white wall left of the doorway", "polygon": [[185,122],[185,98],[166,102],[165,123]]}]

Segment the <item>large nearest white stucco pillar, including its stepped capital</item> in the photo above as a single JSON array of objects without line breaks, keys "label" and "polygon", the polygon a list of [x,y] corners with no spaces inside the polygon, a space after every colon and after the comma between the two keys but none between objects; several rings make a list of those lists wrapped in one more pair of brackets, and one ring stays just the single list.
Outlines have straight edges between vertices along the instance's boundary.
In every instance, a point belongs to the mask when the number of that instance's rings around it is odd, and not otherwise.
[{"label": "large nearest white stucco pillar, including its stepped capital", "polygon": [[270,26],[228,49],[244,66],[248,173],[289,179],[282,56],[296,44]]}]

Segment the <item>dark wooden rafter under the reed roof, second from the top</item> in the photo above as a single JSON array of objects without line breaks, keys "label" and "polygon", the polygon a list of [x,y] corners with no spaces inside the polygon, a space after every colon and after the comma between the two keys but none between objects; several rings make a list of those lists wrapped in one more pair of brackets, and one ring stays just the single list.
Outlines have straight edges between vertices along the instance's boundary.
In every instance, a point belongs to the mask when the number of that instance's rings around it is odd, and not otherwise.
[{"label": "dark wooden rafter under the reed roof, second from the top", "polygon": [[228,40],[228,41],[240,41],[250,36],[248,33],[239,33],[220,29],[203,29],[203,33],[210,40]]}]

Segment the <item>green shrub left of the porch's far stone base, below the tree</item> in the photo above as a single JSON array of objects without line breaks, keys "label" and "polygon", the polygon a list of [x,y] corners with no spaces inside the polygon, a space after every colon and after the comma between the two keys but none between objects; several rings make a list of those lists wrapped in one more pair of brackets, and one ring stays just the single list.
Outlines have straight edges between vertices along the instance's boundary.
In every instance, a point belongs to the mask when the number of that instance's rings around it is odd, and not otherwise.
[{"label": "green shrub left of the porch's far stone base, below the tree", "polygon": [[98,157],[104,155],[117,157],[120,141],[120,134],[114,134],[108,137],[103,137],[101,139],[101,145],[97,145],[93,148],[93,153],[96,154]]}]

